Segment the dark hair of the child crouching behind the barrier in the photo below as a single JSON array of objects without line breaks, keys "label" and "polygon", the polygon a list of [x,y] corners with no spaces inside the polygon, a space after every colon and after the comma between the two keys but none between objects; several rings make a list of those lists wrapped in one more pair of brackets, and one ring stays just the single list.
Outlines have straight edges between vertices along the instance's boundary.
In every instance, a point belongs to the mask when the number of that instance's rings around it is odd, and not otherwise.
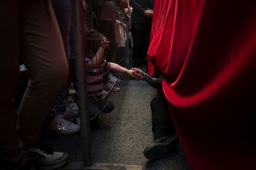
[{"label": "dark hair of the child crouching behind the barrier", "polygon": [[103,44],[103,34],[96,30],[90,30],[86,34],[87,51],[97,52]]}]

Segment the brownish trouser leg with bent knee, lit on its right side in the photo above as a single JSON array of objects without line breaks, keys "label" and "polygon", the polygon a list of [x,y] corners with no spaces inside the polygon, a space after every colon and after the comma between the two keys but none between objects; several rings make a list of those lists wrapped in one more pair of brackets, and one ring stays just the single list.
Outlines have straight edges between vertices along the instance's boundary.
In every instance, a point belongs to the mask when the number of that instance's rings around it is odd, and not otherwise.
[{"label": "brownish trouser leg with bent knee, lit on its right side", "polygon": [[23,145],[32,147],[66,83],[67,59],[51,1],[20,1],[20,38],[23,61],[30,73],[20,103],[18,130]]}]

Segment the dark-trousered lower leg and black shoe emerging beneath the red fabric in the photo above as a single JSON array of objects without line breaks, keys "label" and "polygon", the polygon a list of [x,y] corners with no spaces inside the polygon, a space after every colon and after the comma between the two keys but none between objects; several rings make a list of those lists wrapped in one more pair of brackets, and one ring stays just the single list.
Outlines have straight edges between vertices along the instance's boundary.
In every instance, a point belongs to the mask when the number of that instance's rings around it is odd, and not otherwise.
[{"label": "dark-trousered lower leg and black shoe emerging beneath the red fabric", "polygon": [[143,153],[150,160],[158,160],[172,153],[179,144],[179,139],[175,134],[174,124],[164,95],[159,95],[151,100],[150,106],[154,142],[148,145]]}]

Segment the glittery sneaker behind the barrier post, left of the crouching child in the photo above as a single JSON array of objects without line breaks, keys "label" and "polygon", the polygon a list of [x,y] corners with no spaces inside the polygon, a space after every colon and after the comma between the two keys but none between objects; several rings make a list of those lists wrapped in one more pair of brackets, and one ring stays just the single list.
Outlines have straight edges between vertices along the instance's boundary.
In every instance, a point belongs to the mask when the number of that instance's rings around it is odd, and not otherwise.
[{"label": "glittery sneaker behind the barrier post, left of the crouching child", "polygon": [[59,134],[67,135],[74,134],[75,132],[80,131],[80,126],[63,119],[61,116],[57,115],[51,123],[49,123],[49,133],[50,134]]}]

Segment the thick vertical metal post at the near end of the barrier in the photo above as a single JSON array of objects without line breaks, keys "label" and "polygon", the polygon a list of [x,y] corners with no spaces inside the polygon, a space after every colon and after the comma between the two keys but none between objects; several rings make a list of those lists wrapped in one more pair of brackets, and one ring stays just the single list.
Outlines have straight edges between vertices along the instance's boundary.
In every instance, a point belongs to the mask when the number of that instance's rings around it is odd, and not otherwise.
[{"label": "thick vertical metal post at the near end of the barrier", "polygon": [[79,113],[81,142],[83,147],[83,166],[92,166],[92,145],[90,138],[90,119],[87,109],[87,80],[85,73],[85,35],[83,29],[82,0],[74,0],[75,51],[77,54],[77,79],[79,91]]}]

